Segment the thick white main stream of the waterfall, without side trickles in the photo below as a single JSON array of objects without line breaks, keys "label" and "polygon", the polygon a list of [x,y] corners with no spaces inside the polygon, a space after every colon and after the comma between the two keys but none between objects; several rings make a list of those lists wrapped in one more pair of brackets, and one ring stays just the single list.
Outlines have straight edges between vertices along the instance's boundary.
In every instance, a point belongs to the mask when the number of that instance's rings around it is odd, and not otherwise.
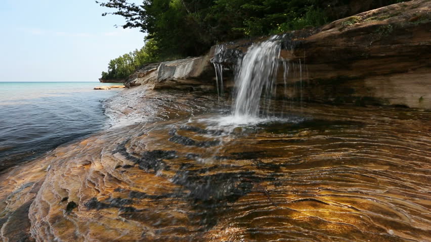
[{"label": "thick white main stream of the waterfall, without side trickles", "polygon": [[232,107],[235,118],[257,117],[261,96],[275,91],[281,44],[277,36],[251,45],[235,77],[236,95]]}]

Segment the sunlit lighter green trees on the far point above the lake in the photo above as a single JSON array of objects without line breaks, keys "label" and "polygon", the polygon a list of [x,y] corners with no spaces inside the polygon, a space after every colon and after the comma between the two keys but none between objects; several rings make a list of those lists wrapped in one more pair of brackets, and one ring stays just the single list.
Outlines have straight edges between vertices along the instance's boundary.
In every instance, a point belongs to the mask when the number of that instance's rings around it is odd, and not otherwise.
[{"label": "sunlit lighter green trees on the far point above the lake", "polygon": [[102,72],[102,79],[124,79],[143,65],[157,62],[159,59],[157,52],[155,41],[148,40],[141,49],[111,59],[108,64],[108,72]]}]

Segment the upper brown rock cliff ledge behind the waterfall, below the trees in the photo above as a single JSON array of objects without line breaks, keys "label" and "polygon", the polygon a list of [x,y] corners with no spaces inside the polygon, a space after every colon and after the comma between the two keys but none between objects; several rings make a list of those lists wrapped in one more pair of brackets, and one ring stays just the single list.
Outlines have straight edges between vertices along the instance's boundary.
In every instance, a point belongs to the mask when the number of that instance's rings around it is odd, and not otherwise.
[{"label": "upper brown rock cliff ledge behind the waterfall, below the trees", "polygon": [[[431,109],[430,6],[428,0],[414,0],[282,35],[278,84],[287,90],[280,98]],[[125,85],[209,90],[215,86],[212,59],[223,66],[229,88],[238,59],[253,42],[266,39],[225,43],[203,57],[152,64]],[[286,68],[296,74],[286,79]]]}]

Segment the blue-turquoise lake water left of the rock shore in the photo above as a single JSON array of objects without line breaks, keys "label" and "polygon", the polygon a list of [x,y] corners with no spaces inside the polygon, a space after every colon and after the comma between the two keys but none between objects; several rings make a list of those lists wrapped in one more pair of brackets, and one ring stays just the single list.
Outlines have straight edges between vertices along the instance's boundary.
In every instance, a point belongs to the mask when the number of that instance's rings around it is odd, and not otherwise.
[{"label": "blue-turquoise lake water left of the rock shore", "polygon": [[0,172],[107,128],[97,82],[0,82]]}]

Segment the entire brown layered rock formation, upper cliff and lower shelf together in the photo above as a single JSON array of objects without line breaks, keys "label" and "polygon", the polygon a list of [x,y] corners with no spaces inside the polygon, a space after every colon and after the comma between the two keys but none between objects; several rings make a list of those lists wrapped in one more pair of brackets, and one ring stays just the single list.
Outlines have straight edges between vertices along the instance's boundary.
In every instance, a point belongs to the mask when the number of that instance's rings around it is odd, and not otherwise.
[{"label": "entire brown layered rock formation, upper cliff and lower shelf together", "polygon": [[[428,16],[429,3],[418,0],[387,7],[403,11],[384,19],[383,8],[358,15],[352,24],[346,19],[297,32],[302,37],[291,37],[282,51],[284,67],[296,70],[293,80],[284,82],[280,72],[282,86],[292,87],[282,94],[292,98],[272,100],[272,121],[255,126],[220,125],[229,115],[230,101],[189,91],[199,85],[205,89],[207,84],[199,78],[211,70],[204,68],[208,59],[205,65],[202,59],[190,58],[148,66],[136,77],[141,86],[105,104],[114,120],[112,129],[0,174],[0,238],[431,240],[429,111],[290,102],[298,96],[334,101],[340,97],[337,93],[344,93],[344,98],[362,101],[387,95],[383,97],[388,104],[407,105],[407,99],[399,100],[427,90],[423,80],[429,74],[425,59],[429,52],[417,50],[429,47],[423,32],[429,19],[421,17]],[[403,29],[407,18],[408,28]],[[383,33],[404,37],[396,40],[382,34],[374,43],[361,45],[378,36],[370,29],[389,25],[393,30],[383,27],[387,30]],[[342,40],[340,49],[330,47],[331,36]],[[391,42],[407,37],[410,46]],[[389,43],[398,48],[382,52]],[[249,43],[234,45],[226,48],[233,50],[231,60]],[[322,56],[317,49],[304,55],[307,46],[319,46]],[[364,48],[370,55],[358,60]],[[411,61],[413,52],[419,62]],[[395,56],[405,58],[398,63]],[[192,66],[199,63],[202,72],[194,72]],[[328,71],[315,77],[313,68]],[[306,69],[303,75],[300,70]],[[393,81],[390,86],[387,80]],[[152,90],[173,84],[185,90]],[[426,95],[421,99],[425,104]],[[379,99],[371,101],[381,104]]]}]

